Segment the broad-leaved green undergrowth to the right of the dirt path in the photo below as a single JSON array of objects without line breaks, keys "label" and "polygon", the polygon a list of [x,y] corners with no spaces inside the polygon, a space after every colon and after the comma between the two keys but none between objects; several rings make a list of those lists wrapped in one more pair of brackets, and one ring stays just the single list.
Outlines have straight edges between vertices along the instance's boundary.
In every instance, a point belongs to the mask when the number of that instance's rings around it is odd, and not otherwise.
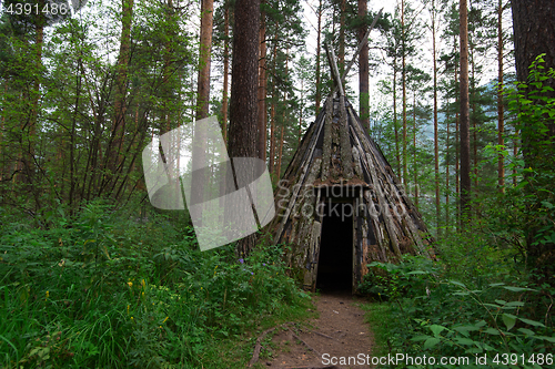
[{"label": "broad-leaved green undergrowth to the right of the dirt path", "polygon": [[444,239],[437,262],[405,256],[398,265],[369,265],[360,288],[374,299],[365,307],[373,356],[398,358],[380,368],[555,367],[555,290],[534,285],[508,250],[477,234]]}]

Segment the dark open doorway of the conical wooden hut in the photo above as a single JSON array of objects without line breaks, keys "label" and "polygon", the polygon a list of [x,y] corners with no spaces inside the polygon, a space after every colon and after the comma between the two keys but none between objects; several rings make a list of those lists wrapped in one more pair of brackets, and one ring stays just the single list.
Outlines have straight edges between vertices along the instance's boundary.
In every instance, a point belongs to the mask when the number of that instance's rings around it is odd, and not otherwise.
[{"label": "dark open doorway of the conical wooden hut", "polygon": [[316,288],[349,291],[353,281],[353,211],[351,203],[324,207]]}]

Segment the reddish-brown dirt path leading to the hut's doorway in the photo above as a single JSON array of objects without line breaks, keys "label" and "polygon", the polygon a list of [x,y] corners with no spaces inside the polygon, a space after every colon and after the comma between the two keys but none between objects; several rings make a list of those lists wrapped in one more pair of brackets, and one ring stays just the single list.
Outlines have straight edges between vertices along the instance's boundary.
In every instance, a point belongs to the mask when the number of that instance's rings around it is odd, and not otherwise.
[{"label": "reddish-brown dirt path leading to the hut's doorway", "polygon": [[272,344],[265,348],[271,358],[261,358],[259,367],[371,368],[355,360],[371,355],[372,349],[372,335],[364,311],[353,305],[355,298],[350,294],[323,294],[314,299],[320,317],[273,331]]}]

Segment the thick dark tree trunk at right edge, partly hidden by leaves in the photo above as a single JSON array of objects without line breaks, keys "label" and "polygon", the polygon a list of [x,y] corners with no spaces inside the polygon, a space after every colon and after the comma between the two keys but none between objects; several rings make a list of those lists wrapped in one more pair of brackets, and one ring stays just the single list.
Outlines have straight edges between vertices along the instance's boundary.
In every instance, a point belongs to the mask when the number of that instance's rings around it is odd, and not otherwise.
[{"label": "thick dark tree trunk at right edge, partly hidden by leaves", "polygon": [[[555,68],[555,2],[552,0],[513,0],[513,27],[515,40],[515,58],[517,80],[528,83],[529,65],[539,54],[545,54],[545,70]],[[541,93],[542,98],[555,99],[555,81],[543,81],[552,91]],[[528,90],[535,89],[529,86]],[[527,94],[528,90],[519,91]],[[529,100],[536,100],[533,96]],[[534,104],[545,104],[534,101]],[[539,125],[545,124],[546,132],[538,132]],[[555,123],[553,117],[544,115],[536,121],[523,122],[521,130],[522,148],[526,167],[534,174],[528,174],[528,184],[524,187],[527,197],[526,247],[527,262],[537,268],[536,281],[547,281],[555,285],[555,243],[548,240],[547,234],[542,228],[553,230],[553,218],[549,216],[545,202],[553,202],[553,196],[547,195],[553,188],[553,152],[555,150]],[[538,216],[542,214],[542,216]],[[545,214],[545,216],[544,216]],[[545,219],[546,218],[546,219]],[[551,232],[549,230],[549,232]],[[544,230],[545,232],[545,230]],[[547,238],[547,239],[546,239]],[[543,275],[543,276],[542,276]]]}]

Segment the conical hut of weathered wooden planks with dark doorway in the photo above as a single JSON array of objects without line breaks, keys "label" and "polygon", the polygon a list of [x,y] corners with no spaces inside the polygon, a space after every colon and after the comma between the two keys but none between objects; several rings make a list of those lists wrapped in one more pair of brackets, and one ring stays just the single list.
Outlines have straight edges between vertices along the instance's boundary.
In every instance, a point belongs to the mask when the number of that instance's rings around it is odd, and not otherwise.
[{"label": "conical hut of weathered wooden planks with dark doorway", "polygon": [[432,238],[341,82],[336,91],[279,183],[270,229],[275,244],[289,246],[286,262],[304,288],[354,293],[367,264],[432,257]]}]

